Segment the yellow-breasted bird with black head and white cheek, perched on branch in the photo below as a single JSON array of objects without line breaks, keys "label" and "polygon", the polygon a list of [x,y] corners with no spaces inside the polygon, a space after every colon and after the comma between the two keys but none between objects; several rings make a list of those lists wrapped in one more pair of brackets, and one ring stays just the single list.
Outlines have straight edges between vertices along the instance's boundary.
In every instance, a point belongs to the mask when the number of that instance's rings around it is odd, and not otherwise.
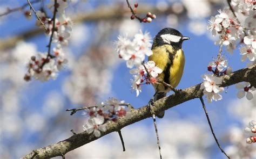
[{"label": "yellow-breasted bird with black head and white cheek, perched on branch", "polygon": [[[185,55],[182,49],[183,41],[190,39],[184,37],[174,28],[163,28],[154,37],[152,44],[153,54],[149,56],[148,61],[154,61],[156,66],[163,70],[158,79],[176,88],[183,75],[185,65]],[[155,94],[153,102],[166,96],[171,89],[161,83],[154,83]],[[164,111],[156,114],[158,118],[164,117]]]}]

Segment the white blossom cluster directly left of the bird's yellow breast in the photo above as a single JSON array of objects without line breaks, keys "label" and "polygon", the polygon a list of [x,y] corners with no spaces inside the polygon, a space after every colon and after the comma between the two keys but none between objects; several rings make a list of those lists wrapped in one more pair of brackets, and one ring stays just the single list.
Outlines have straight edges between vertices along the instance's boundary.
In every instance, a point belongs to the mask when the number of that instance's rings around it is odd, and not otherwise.
[{"label": "white blossom cluster directly left of the bird's yellow breast", "polygon": [[132,69],[130,73],[133,74],[134,78],[132,79],[132,89],[136,90],[138,96],[142,92],[140,85],[156,83],[157,76],[163,71],[153,61],[143,63],[146,55],[152,55],[151,37],[149,33],[143,34],[142,31],[135,34],[132,41],[127,38],[127,35],[119,36],[116,46],[119,57],[126,61],[126,66],[128,68],[137,67]]}]

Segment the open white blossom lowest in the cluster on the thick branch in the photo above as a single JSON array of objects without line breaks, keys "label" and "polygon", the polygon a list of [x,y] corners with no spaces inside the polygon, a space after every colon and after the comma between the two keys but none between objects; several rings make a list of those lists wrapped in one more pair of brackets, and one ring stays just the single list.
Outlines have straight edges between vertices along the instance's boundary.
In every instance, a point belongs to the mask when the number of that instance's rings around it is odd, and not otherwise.
[{"label": "open white blossom lowest in the cluster on the thick branch", "polygon": [[84,131],[91,134],[93,132],[93,135],[95,135],[97,138],[100,136],[100,132],[106,131],[106,126],[102,125],[104,122],[104,117],[101,115],[97,115],[95,118],[90,118],[87,120],[85,125],[83,125]]}]

